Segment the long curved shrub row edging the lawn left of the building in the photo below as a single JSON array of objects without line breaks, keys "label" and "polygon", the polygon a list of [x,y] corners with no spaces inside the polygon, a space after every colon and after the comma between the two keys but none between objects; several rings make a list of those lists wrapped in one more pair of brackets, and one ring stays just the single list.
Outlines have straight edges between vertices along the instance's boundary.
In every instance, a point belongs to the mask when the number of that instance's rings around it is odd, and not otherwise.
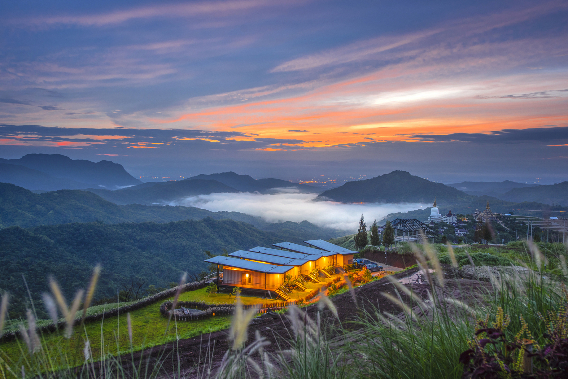
[{"label": "long curved shrub row edging the lawn left of the building", "polygon": [[[194,290],[198,290],[201,288],[206,287],[206,283],[204,280],[199,281],[199,282],[193,282],[193,283],[187,283],[181,286],[181,292],[187,292],[187,291],[194,291]],[[174,295],[176,295],[177,291],[180,289],[180,286],[176,286],[174,288],[170,288],[167,289],[165,291],[161,291],[158,292],[157,294],[145,297],[143,299],[140,299],[140,301],[137,301],[135,303],[132,303],[130,305],[125,305],[125,306],[121,306],[121,307],[115,307],[112,309],[108,309],[99,313],[95,313],[92,315],[88,315],[85,316],[85,322],[93,322],[93,321],[98,321],[98,320],[102,320],[103,317],[112,317],[112,316],[118,316],[119,314],[123,314],[123,313],[127,313],[127,312],[131,312],[131,311],[135,311],[137,309],[143,308],[145,306],[148,306],[152,303],[155,303],[157,301],[163,300],[163,299],[167,299],[169,297],[173,297]],[[81,315],[82,312],[79,311],[77,313],[78,317],[75,319],[74,324],[78,324],[81,321]],[[47,324],[45,326],[39,327],[37,328],[38,331],[40,332],[55,332],[57,329],[59,328],[63,328],[65,327],[65,322],[64,321],[60,321],[57,323],[57,325],[51,323],[51,324]],[[0,340],[6,342],[6,341],[11,341],[14,340],[16,338],[20,337],[20,331],[11,331],[11,332],[6,332],[6,334],[2,335],[2,337],[0,338]]]}]

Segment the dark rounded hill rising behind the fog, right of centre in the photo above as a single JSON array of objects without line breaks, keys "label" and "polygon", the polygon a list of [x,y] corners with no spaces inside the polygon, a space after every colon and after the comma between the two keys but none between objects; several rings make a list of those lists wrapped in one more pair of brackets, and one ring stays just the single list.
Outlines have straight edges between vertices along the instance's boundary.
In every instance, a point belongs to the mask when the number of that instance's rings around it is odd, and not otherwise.
[{"label": "dark rounded hill rising behind the fog, right of centre", "polygon": [[375,178],[346,182],[318,198],[344,203],[454,203],[471,198],[462,191],[431,182],[406,171],[393,171]]}]

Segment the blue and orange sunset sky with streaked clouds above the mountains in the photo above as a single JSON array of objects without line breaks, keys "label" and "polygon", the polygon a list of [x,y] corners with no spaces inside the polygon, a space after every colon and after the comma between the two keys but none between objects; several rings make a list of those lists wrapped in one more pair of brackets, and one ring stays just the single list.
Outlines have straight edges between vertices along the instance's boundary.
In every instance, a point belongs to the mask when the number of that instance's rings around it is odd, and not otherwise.
[{"label": "blue and orange sunset sky with streaked clouds above the mountains", "polygon": [[566,1],[0,5],[0,157],[567,180]]}]

